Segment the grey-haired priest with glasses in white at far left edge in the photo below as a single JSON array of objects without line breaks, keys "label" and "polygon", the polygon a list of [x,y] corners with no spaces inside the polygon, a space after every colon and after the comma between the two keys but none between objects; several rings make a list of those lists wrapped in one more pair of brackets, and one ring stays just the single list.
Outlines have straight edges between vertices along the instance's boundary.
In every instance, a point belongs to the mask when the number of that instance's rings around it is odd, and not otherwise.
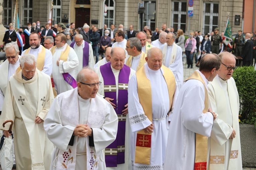
[{"label": "grey-haired priest with glasses in white at far left edge", "polygon": [[5,91],[7,83],[12,74],[15,73],[16,69],[19,67],[19,47],[16,42],[7,43],[4,46],[5,60],[0,65],[0,114],[4,104]]}]

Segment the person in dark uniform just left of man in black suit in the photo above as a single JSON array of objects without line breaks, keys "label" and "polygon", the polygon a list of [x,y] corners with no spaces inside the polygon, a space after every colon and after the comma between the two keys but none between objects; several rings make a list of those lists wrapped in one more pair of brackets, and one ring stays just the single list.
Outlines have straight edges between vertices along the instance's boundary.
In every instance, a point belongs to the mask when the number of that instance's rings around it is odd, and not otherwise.
[{"label": "person in dark uniform just left of man in black suit", "polygon": [[235,49],[235,54],[236,54],[236,66],[241,64],[241,52],[242,52],[242,47],[244,45],[245,39],[244,36],[242,35],[242,30],[238,30],[238,35],[235,37],[234,41],[234,49]]}]

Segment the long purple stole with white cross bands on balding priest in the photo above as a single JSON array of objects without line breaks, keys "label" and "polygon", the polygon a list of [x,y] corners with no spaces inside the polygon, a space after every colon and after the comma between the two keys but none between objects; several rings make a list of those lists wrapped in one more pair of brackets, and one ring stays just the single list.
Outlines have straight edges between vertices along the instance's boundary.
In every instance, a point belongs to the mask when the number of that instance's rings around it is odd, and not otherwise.
[{"label": "long purple stole with white cross bands on balding priest", "polygon": [[[115,112],[118,117],[118,130],[116,139],[108,147],[105,148],[106,167],[117,167],[117,164],[124,163],[125,150],[125,121],[126,115],[122,115],[124,105],[128,103],[128,82],[131,72],[129,66],[123,65],[118,75],[118,105],[116,104],[116,84],[115,76],[112,72],[110,62],[100,66],[100,72],[104,80],[105,97],[114,99],[111,101],[116,105]],[[129,147],[129,146],[127,146]]]}]

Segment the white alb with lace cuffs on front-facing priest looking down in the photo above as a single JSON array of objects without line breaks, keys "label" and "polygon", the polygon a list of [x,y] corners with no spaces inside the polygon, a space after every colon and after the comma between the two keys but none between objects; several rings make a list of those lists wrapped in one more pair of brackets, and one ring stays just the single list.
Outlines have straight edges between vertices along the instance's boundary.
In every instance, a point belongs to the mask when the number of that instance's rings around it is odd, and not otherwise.
[{"label": "white alb with lace cuffs on front-facing priest looking down", "polygon": [[[128,85],[128,107],[129,120],[131,124],[131,156],[133,170],[162,170],[165,159],[165,152],[167,146],[168,136],[168,119],[170,101],[168,94],[168,87],[163,76],[163,69],[155,71],[148,67],[148,64],[144,64],[145,73],[150,80],[151,93],[152,93],[152,118],[151,122],[147,116],[145,116],[142,105],[140,104],[137,87],[136,74],[132,76]],[[175,85],[176,90],[173,95],[173,102],[175,102],[178,95],[178,86]],[[155,89],[158,89],[157,91]],[[174,103],[173,103],[174,105]],[[150,164],[135,163],[135,150],[137,132],[154,124],[154,130],[151,134],[151,152],[150,152]]]}]

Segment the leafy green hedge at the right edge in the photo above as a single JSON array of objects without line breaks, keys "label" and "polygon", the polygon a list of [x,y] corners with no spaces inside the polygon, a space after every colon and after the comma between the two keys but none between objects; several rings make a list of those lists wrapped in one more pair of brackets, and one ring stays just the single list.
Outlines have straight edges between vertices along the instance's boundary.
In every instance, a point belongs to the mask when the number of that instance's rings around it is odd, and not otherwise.
[{"label": "leafy green hedge at the right edge", "polygon": [[239,99],[241,123],[256,127],[256,70],[252,66],[238,67],[234,73]]}]

